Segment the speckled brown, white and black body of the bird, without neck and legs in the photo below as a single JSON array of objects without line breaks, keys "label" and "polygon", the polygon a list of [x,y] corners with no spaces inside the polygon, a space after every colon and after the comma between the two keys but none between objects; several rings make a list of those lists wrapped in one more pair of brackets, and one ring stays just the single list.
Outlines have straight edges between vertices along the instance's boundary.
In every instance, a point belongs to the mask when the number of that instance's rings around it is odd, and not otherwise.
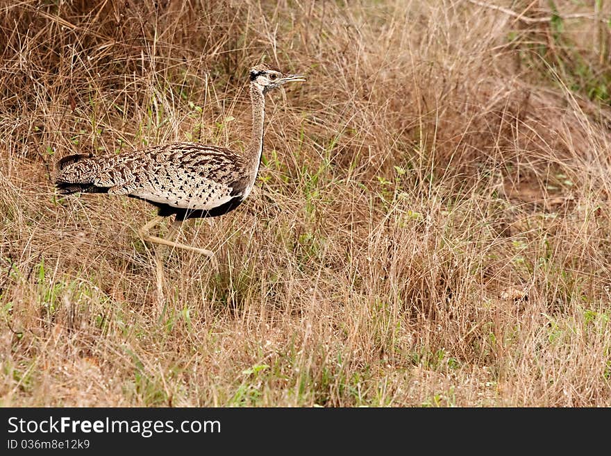
[{"label": "speckled brown, white and black body of the bird, without neck and legs", "polygon": [[[119,155],[70,155],[58,187],[63,193],[108,193],[149,201],[176,219],[215,217],[249,195],[248,160],[221,147],[179,142]],[[256,174],[255,174],[256,176]]]}]

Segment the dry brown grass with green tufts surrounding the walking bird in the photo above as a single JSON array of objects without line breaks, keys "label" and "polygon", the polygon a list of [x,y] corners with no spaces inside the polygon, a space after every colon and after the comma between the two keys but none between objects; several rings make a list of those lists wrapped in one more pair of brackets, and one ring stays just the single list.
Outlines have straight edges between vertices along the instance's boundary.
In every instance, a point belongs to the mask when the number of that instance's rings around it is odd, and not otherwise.
[{"label": "dry brown grass with green tufts surrounding the walking bird", "polygon": [[[492,8],[495,6],[495,8]],[[499,7],[499,8],[496,8]],[[611,406],[611,1],[0,3],[2,405]],[[176,140],[256,192],[166,260],[53,162]],[[163,228],[165,229],[165,228]]]}]

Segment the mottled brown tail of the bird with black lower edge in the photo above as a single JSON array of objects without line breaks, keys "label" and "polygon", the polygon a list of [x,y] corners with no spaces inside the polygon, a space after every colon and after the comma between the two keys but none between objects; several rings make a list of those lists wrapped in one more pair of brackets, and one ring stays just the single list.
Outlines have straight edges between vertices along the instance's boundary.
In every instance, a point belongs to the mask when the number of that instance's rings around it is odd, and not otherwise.
[{"label": "mottled brown tail of the bird with black lower edge", "polygon": [[56,164],[55,185],[61,194],[106,193],[108,187],[95,185],[100,169],[99,160],[92,155],[68,155]]}]

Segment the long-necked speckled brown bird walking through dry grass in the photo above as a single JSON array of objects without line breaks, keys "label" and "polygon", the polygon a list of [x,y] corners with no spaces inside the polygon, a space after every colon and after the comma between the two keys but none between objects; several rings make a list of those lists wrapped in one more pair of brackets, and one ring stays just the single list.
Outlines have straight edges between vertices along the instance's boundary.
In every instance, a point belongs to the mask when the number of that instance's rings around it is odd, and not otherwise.
[{"label": "long-necked speckled brown bird walking through dry grass", "polygon": [[[157,217],[138,233],[144,242],[160,244],[155,260],[158,293],[162,296],[162,246],[214,257],[212,251],[173,239],[185,220],[219,217],[235,210],[249,196],[262,159],[265,94],[291,82],[305,82],[305,76],[284,74],[265,63],[250,69],[252,134],[243,153],[198,142],[174,142],[119,154],[67,155],[56,163],[56,188],[62,195],[124,195],[156,206]],[[172,215],[174,220],[165,238],[151,234]]]}]

